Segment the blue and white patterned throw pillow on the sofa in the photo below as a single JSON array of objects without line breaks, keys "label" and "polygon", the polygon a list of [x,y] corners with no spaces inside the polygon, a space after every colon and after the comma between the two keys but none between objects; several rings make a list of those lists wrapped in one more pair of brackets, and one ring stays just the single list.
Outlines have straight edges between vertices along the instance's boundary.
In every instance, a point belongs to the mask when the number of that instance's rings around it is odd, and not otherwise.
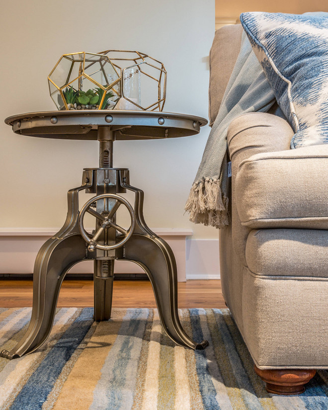
[{"label": "blue and white patterned throw pillow on the sofa", "polygon": [[250,12],[241,22],[295,135],[291,148],[328,143],[328,13]]}]

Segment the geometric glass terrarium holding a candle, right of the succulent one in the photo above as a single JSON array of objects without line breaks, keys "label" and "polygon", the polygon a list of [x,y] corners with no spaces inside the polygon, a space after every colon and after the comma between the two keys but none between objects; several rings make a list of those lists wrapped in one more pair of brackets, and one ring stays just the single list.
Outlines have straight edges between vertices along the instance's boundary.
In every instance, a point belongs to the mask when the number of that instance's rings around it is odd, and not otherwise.
[{"label": "geometric glass terrarium holding a candle, right of the succulent one", "polygon": [[121,98],[115,109],[163,111],[166,95],[163,63],[139,51],[106,50],[99,54],[121,69]]}]

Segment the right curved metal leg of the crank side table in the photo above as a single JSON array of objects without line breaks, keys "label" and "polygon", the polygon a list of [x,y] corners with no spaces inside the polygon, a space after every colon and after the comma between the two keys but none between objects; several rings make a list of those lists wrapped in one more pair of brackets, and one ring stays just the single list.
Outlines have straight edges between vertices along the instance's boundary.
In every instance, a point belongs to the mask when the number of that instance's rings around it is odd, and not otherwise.
[{"label": "right curved metal leg of the crank side table", "polygon": [[135,192],[136,229],[123,250],[124,260],[139,264],[147,273],[155,294],[162,326],[176,344],[191,349],[205,349],[208,341],[193,341],[183,330],[177,308],[177,271],[171,248],[152,232],[143,216],[144,192],[128,185],[122,178],[121,185]]}]

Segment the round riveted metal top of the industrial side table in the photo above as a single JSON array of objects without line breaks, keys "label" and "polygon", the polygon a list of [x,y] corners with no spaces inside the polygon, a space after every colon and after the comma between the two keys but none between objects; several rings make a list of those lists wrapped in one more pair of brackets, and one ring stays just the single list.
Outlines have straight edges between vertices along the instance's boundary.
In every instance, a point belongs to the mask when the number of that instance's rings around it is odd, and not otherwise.
[{"label": "round riveted metal top of the industrial side table", "polygon": [[29,112],[4,120],[20,135],[96,140],[98,127],[109,126],[116,140],[186,137],[199,133],[207,120],[160,111],[70,110]]}]

